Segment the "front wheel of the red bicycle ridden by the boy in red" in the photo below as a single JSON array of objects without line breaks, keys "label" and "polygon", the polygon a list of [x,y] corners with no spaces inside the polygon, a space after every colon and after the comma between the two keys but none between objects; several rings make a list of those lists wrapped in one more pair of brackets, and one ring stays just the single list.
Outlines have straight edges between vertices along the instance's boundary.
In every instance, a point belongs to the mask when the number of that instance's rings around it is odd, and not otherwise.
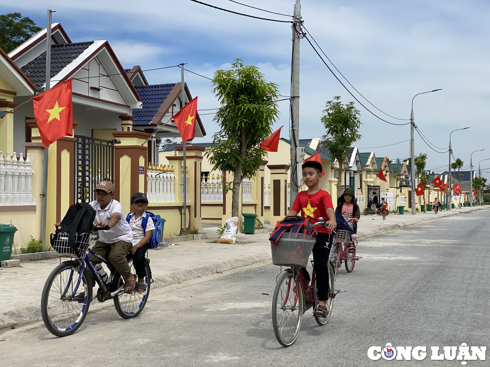
[{"label": "front wheel of the red bicycle ridden by the boy in red", "polygon": [[282,346],[293,345],[298,337],[303,319],[303,291],[301,289],[294,304],[296,279],[291,271],[282,273],[277,280],[272,297],[272,325],[276,339]]}]

